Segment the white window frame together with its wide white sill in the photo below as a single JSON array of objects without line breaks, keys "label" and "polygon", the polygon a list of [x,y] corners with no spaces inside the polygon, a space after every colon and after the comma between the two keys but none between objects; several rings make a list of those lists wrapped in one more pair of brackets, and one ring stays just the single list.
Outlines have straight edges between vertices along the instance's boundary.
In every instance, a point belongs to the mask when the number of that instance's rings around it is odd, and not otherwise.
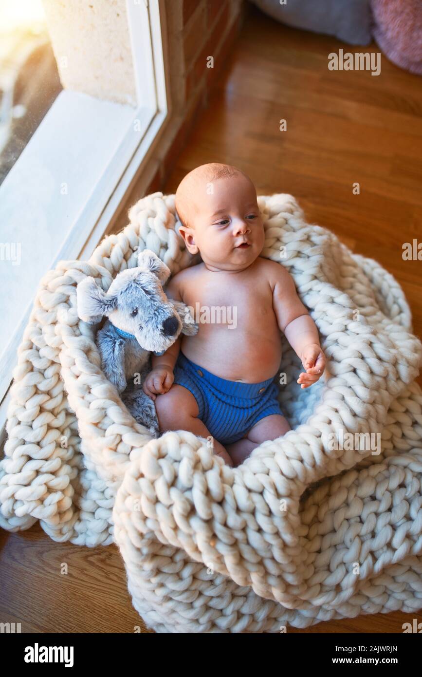
[{"label": "white window frame together with its wide white sill", "polygon": [[[0,186],[0,285],[7,290],[1,294],[0,399],[39,280],[57,261],[89,258],[133,182],[145,175],[147,185],[152,177],[149,160],[168,116],[164,3],[119,2],[126,11],[137,104],[63,89]],[[79,3],[60,5],[71,14]],[[110,9],[108,3],[97,7]],[[53,35],[51,42],[54,47]]]}]

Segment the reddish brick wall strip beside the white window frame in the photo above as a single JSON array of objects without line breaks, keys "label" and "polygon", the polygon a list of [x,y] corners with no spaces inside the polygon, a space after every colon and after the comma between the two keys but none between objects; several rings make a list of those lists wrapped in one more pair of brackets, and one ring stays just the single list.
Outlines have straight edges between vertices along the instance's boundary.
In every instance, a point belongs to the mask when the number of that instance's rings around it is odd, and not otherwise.
[{"label": "reddish brick wall strip beside the white window frame", "polygon": [[[128,208],[139,198],[163,190],[197,116],[208,106],[210,91],[225,68],[225,59],[243,20],[244,0],[164,1],[172,121],[154,150],[153,179],[142,192],[135,182],[118,227],[126,225]],[[213,68],[207,67],[208,57],[214,60]]]}]

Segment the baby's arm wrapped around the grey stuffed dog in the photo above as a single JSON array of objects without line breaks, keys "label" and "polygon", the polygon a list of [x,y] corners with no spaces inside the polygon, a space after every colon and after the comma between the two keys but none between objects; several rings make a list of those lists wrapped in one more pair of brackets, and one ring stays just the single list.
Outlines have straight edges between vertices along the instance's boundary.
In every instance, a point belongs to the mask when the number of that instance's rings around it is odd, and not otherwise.
[{"label": "baby's arm wrapped around the grey stuffed dog", "polygon": [[[174,278],[171,278],[166,287],[166,296],[174,301],[182,301],[179,280],[177,280],[178,275],[176,274]],[[143,382],[143,391],[151,399],[156,399],[160,393],[166,393],[170,390],[174,380],[173,370],[179,355],[181,341],[182,336],[180,335],[163,355],[151,355],[152,370]]]}]

